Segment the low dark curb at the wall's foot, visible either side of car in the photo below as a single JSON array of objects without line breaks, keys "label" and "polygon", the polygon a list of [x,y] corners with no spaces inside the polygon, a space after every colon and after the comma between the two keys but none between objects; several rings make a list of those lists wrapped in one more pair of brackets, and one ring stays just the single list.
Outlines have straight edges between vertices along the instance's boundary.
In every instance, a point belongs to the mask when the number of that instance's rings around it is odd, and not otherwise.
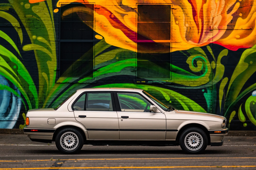
[{"label": "low dark curb at the wall's foot, visible either side of car", "polygon": [[[0,134],[24,134],[23,129],[0,129]],[[256,137],[256,131],[229,131],[230,137]]]}]

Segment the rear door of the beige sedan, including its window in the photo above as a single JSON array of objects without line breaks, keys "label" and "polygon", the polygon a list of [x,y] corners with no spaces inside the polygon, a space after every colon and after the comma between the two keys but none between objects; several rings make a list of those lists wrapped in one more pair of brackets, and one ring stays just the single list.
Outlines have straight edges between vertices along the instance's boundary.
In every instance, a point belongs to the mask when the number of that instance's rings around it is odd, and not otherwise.
[{"label": "rear door of the beige sedan, including its window", "polygon": [[74,102],[75,118],[89,134],[89,139],[119,139],[118,118],[113,107],[113,93],[85,92]]}]

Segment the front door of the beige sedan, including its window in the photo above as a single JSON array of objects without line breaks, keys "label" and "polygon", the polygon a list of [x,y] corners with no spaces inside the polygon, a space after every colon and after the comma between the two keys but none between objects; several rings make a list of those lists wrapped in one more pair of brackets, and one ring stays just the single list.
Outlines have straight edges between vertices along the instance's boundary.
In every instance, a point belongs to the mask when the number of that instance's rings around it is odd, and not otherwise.
[{"label": "front door of the beige sedan, including its window", "polygon": [[[165,140],[166,118],[149,111],[151,103],[137,93],[117,92],[120,139]],[[118,108],[118,107],[117,107]]]}]

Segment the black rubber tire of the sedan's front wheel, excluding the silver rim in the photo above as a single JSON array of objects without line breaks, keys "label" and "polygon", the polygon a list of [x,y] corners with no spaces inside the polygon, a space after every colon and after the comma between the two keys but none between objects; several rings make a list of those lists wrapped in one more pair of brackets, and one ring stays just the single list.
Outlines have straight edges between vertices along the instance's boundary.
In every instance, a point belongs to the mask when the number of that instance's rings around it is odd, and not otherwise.
[{"label": "black rubber tire of the sedan's front wheel, excluding the silver rim", "polygon": [[[196,150],[196,151],[191,151],[189,150],[186,146],[185,146],[185,137],[188,133],[190,132],[197,132],[199,134],[202,135],[202,138],[203,138],[203,145],[202,147],[199,149],[199,150]],[[179,142],[180,142],[180,147],[183,151],[185,151],[187,154],[201,154],[207,147],[207,143],[208,143],[208,138],[207,138],[207,135],[206,133],[202,130],[202,129],[199,129],[199,128],[188,128],[186,129],[185,131],[183,131],[180,135],[180,139],[179,139]]]}]

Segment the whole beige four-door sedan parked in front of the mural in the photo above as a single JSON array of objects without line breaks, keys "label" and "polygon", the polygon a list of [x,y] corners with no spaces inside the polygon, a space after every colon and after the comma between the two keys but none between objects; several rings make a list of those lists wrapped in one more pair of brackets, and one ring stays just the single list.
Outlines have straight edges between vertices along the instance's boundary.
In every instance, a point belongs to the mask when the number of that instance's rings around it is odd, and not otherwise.
[{"label": "whole beige four-door sedan parked in front of the mural", "polygon": [[90,145],[180,145],[199,154],[221,146],[226,118],[167,107],[141,89],[78,89],[55,108],[31,109],[24,133],[73,154]]}]

